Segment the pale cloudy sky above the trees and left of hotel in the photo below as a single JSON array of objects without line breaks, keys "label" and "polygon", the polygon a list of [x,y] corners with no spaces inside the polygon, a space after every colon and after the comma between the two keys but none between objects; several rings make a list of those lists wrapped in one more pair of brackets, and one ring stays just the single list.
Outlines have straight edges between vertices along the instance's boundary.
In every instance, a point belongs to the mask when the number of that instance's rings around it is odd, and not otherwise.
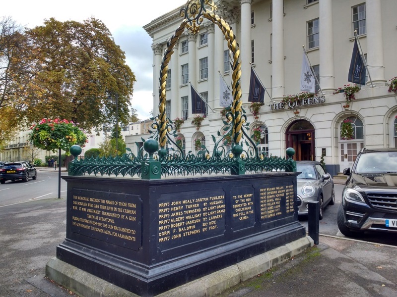
[{"label": "pale cloudy sky above the trees and left of hotel", "polygon": [[[126,53],[126,63],[135,74],[132,107],[141,120],[153,109],[152,39],[143,26],[185,4],[187,0],[18,0],[2,1],[0,17],[11,17],[17,24],[34,28],[51,17],[58,21],[101,20],[115,43]],[[154,114],[156,110],[154,110]]]}]

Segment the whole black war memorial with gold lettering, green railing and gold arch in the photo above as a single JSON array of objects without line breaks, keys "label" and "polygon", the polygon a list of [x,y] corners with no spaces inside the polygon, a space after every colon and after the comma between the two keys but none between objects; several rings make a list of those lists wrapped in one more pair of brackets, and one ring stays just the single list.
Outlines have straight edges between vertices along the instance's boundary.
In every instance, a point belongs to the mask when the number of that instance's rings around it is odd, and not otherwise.
[{"label": "whole black war memorial with gold lettering, green railing and gold arch", "polygon": [[[77,294],[83,293],[76,284],[86,280],[76,280],[76,270],[132,296],[155,296],[306,236],[297,215],[294,150],[287,158],[258,153],[240,98],[238,44],[214,8],[210,0],[182,8],[162,59],[153,133],[136,156],[77,160],[81,148],[70,148],[66,239],[46,275]],[[233,102],[226,133],[212,136],[212,152],[203,146],[195,155],[174,142],[165,81],[175,43],[185,30],[197,33],[203,18],[222,30],[233,54]],[[227,135],[231,149],[223,145]]]}]

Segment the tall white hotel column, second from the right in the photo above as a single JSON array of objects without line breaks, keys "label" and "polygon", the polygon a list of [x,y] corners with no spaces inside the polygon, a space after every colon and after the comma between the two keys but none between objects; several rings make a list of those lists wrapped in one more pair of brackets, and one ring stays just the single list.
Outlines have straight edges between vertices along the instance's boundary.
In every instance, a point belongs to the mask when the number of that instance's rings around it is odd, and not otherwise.
[{"label": "tall white hotel column, second from the right", "polygon": [[331,0],[319,1],[320,9],[320,88],[324,93],[335,91],[333,69],[333,29]]}]

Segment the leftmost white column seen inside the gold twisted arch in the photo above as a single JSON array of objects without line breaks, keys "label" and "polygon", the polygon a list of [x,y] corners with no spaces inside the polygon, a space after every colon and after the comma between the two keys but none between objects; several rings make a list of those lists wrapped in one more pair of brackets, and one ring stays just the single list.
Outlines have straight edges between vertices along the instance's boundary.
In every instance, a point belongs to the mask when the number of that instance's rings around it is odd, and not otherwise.
[{"label": "leftmost white column seen inside the gold twisted arch", "polygon": [[178,46],[177,42],[174,46],[174,53],[171,56],[171,96],[167,98],[171,100],[171,115],[170,119],[173,120],[176,117],[181,117],[181,99],[179,98],[179,63],[178,63]]}]

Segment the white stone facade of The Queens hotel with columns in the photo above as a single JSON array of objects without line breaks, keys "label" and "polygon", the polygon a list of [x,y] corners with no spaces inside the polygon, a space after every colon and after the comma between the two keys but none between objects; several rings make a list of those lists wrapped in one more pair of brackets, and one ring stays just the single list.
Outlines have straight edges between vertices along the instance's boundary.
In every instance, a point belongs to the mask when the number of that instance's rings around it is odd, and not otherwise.
[{"label": "white stone facade of The Queens hotel with columns", "polygon": [[[287,147],[297,151],[295,159],[324,161],[337,171],[348,167],[362,148],[396,146],[397,97],[388,92],[388,81],[397,76],[397,1],[395,0],[221,0],[218,10],[233,28],[239,43],[241,59],[241,86],[243,108],[250,127],[263,127],[262,149],[268,154],[285,155]],[[182,21],[181,7],[168,12],[144,26],[153,39],[153,102],[154,114],[158,107],[158,77],[162,53],[168,39]],[[180,137],[186,151],[194,151],[194,141],[205,138],[211,151],[212,137],[223,123],[219,106],[219,74],[231,86],[231,71],[224,60],[228,50],[222,32],[204,19],[199,33],[182,36],[168,64],[170,81],[166,88],[167,115],[171,120],[184,117],[186,97],[188,116]],[[355,94],[356,99],[344,108],[344,94],[333,94],[347,82],[353,50],[354,29],[358,30],[362,53],[366,57],[369,74],[367,84]],[[187,32],[187,31],[186,31]],[[206,43],[201,34],[206,33]],[[187,48],[186,48],[187,46]],[[299,106],[295,109],[279,108],[283,96],[300,93],[300,73],[303,49],[311,65],[317,69],[323,103]],[[201,76],[201,61],[207,61],[207,77]],[[265,105],[258,119],[249,111],[250,63],[266,87]],[[188,80],[199,93],[206,93],[208,116],[199,131],[191,124],[195,114],[191,110],[189,83],[183,82],[182,71],[188,65]],[[367,75],[368,76],[368,75]],[[321,96],[321,92],[319,92]],[[204,96],[205,97],[205,96]],[[185,101],[184,101],[185,100]],[[271,108],[272,106],[272,108]],[[294,111],[298,110],[299,114]],[[346,118],[354,121],[355,139],[341,140],[340,125]],[[301,121],[298,123],[298,121]],[[362,126],[361,126],[362,125]],[[300,127],[301,126],[301,127]],[[295,130],[294,130],[295,129]],[[303,132],[300,132],[299,129]],[[134,142],[133,137],[129,142]],[[129,144],[131,147],[131,145]],[[334,173],[334,172],[333,172]]]}]

